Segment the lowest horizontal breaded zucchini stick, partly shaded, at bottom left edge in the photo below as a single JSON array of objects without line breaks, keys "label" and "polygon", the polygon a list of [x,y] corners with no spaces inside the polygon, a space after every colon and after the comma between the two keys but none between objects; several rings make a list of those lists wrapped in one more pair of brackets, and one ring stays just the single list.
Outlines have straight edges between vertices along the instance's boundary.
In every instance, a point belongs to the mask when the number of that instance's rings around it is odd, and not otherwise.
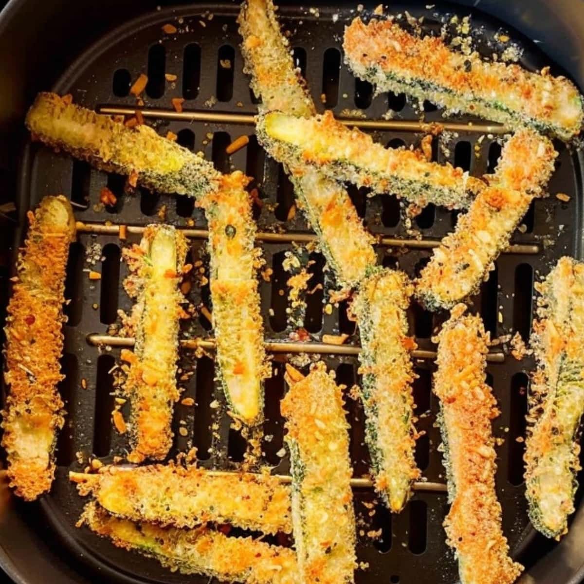
[{"label": "lowest horizontal breaded zucchini stick, partly shaded, at bottom left edge", "polygon": [[296,558],[290,548],[251,537],[228,537],[207,527],[177,529],[133,523],[109,515],[95,502],[86,505],[79,525],[125,550],[155,558],[183,574],[204,574],[221,582],[296,584]]}]

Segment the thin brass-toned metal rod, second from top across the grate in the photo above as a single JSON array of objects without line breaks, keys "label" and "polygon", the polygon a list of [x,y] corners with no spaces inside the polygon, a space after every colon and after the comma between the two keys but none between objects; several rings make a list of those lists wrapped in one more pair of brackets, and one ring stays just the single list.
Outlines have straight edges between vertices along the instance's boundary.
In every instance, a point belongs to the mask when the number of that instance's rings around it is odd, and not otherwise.
[{"label": "thin brass-toned metal rod, second from top across the grate", "polygon": [[[142,234],[144,233],[145,227],[139,225],[103,225],[101,223],[82,223],[77,221],[77,232],[78,233],[94,233],[101,235],[116,235],[120,232],[120,227],[126,228],[127,233],[131,234]],[[180,231],[185,234],[186,237],[193,239],[206,239],[208,237],[208,231],[204,229],[192,229],[192,228],[182,228],[179,227]],[[266,242],[279,242],[279,243],[308,243],[312,241],[317,241],[317,236],[312,233],[270,233],[270,232],[258,232],[256,234],[256,239],[258,241]],[[440,245],[440,241],[432,239],[398,239],[392,237],[381,237],[377,241],[380,245],[387,245],[389,247],[395,248],[411,248],[411,249],[433,249]],[[538,244],[513,244],[509,245],[503,253],[519,253],[522,255],[536,255],[540,252],[540,246]]]}]

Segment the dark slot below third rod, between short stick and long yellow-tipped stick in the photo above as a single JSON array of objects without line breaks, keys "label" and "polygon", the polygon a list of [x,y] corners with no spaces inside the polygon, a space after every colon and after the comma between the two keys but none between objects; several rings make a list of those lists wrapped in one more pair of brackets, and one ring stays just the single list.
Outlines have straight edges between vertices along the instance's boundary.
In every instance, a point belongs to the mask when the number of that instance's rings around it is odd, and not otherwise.
[{"label": "dark slot below third rod, between short stick and long yellow-tipped stick", "polygon": [[199,460],[208,460],[211,456],[211,423],[215,365],[213,359],[201,357],[197,360],[196,404],[194,406],[193,446],[197,449]]}]

